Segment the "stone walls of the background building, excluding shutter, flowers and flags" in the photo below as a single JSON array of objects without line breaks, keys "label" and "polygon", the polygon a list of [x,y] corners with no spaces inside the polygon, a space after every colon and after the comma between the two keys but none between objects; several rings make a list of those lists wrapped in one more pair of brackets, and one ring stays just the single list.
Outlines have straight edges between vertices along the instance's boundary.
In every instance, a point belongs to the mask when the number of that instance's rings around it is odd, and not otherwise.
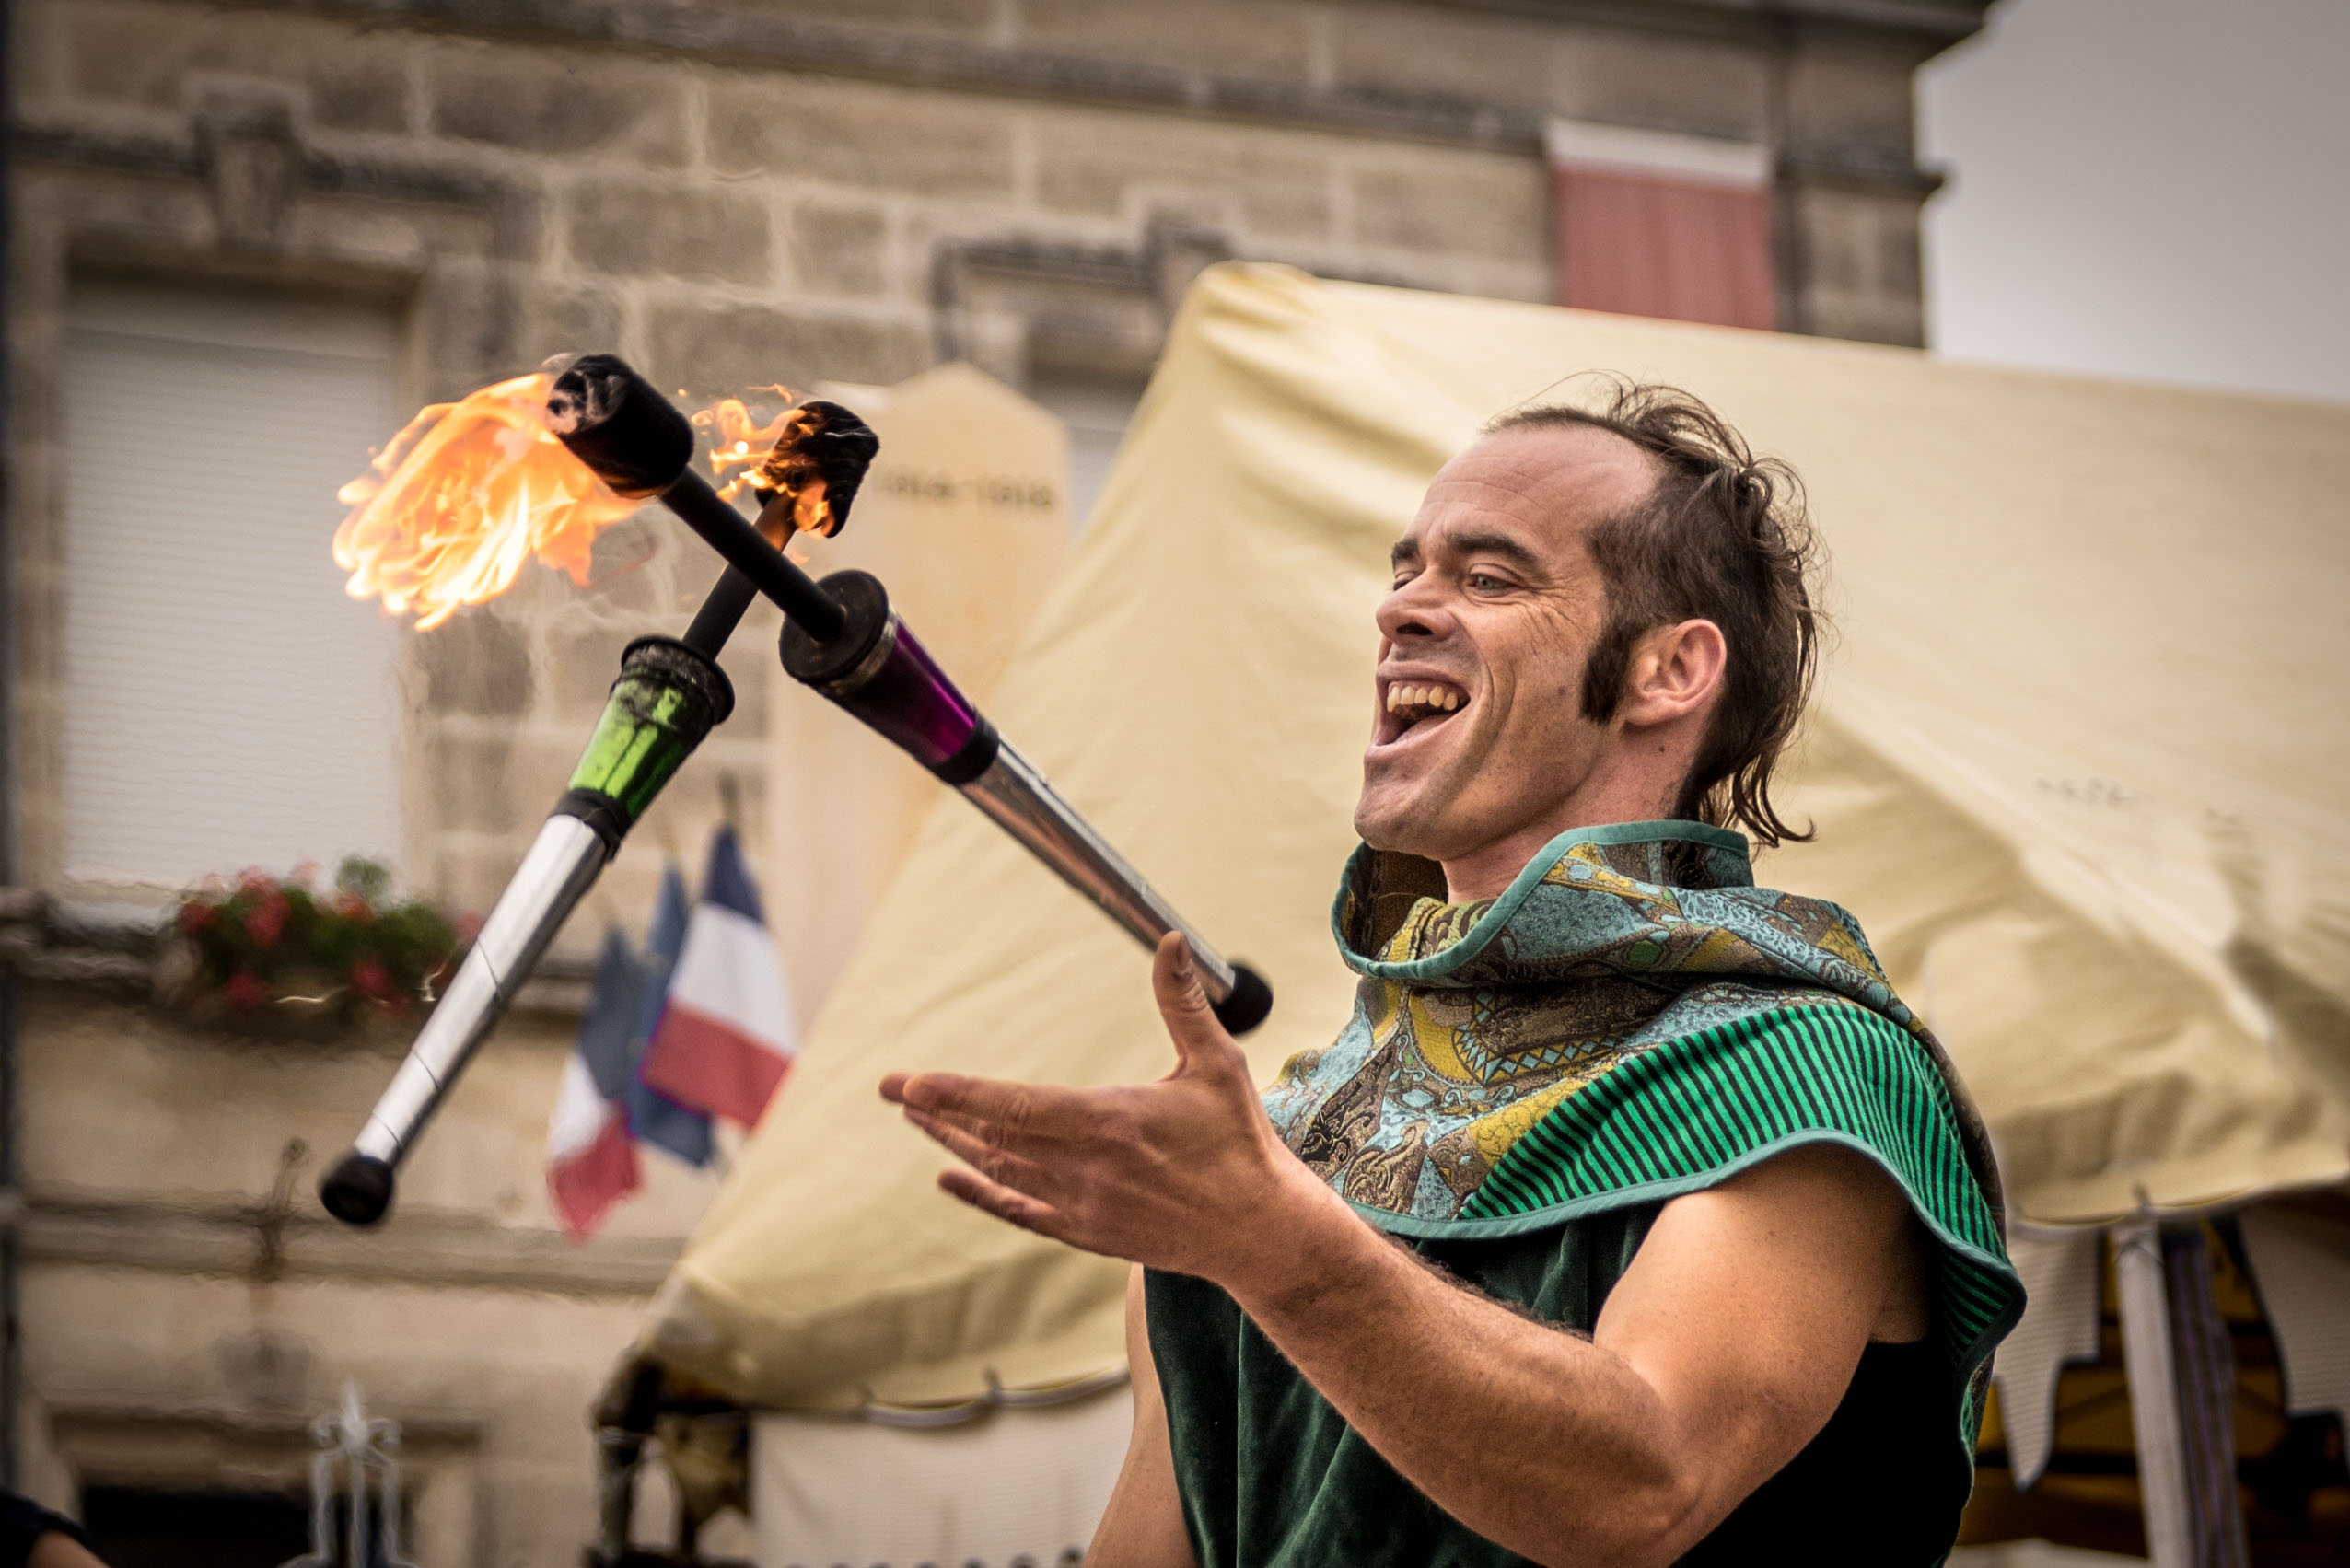
[{"label": "stone walls of the background building, excluding shutter, flowers and flags", "polygon": [[[59,313],[80,273],[383,301],[414,402],[569,348],[667,388],[891,383],[968,357],[1137,383],[1222,256],[1546,299],[1546,115],[1777,153],[1781,320],[1920,334],[1911,73],[1981,0],[1760,7],[1372,0],[21,0],[9,548],[24,879],[59,889]],[[1854,19],[1866,16],[1866,19]],[[390,435],[390,433],[385,433]],[[529,569],[409,649],[407,877],[503,886],[627,637],[714,576],[674,524],[604,536],[597,585]],[[611,872],[642,912],[731,776],[771,860],[761,722],[738,717]],[[374,1239],[308,1187],[385,1041],[256,1046],[132,1001],[26,1013],[26,1443],[92,1474],[284,1479],[343,1375],[430,1472],[430,1563],[573,1561],[583,1406],[705,1187],[679,1175],[571,1251],[538,1138],[564,1023],[510,1027]],[[270,1208],[287,1140],[291,1199]],[[275,1213],[275,1218],[273,1218]],[[273,1229],[275,1227],[275,1229]],[[268,1239],[275,1237],[275,1239]]]}]

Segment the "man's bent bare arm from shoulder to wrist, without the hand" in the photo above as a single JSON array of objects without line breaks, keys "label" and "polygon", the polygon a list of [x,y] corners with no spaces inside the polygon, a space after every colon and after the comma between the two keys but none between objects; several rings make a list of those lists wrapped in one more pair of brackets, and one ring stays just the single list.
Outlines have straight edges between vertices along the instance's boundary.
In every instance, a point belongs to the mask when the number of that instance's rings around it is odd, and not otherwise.
[{"label": "man's bent bare arm from shoulder to wrist, without the hand", "polygon": [[1295,1274],[1234,1295],[1478,1535],[1553,1566],[1671,1563],[1826,1425],[1904,1222],[1889,1180],[1814,1147],[1666,1204],[1589,1340],[1361,1225],[1316,1225]]}]

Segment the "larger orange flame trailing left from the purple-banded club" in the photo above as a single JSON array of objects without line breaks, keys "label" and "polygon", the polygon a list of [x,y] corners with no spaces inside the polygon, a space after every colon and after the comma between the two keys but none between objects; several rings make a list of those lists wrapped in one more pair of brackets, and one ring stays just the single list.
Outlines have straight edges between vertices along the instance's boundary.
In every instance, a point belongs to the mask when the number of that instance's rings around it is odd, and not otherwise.
[{"label": "larger orange flame trailing left from the purple-banded club", "polygon": [[336,491],[334,562],[352,599],[416,628],[505,592],[533,555],[588,583],[595,536],[637,510],[548,430],[550,378],[515,376],[435,402]]}]

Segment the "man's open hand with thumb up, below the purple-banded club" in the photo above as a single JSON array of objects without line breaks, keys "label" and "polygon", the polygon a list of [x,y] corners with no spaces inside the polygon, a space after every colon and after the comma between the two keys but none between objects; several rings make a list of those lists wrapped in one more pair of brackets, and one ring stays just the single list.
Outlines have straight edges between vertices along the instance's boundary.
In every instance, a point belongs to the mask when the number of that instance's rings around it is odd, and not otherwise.
[{"label": "man's open hand with thumb up, below the purple-banded club", "polygon": [[1159,943],[1152,990],[1175,1041],[1175,1070],[1154,1084],[893,1072],[881,1098],[971,1166],[940,1173],[940,1187],[1088,1253],[1231,1288],[1285,1274],[1285,1239],[1309,1215],[1361,1227],[1274,1135],[1180,933]]}]

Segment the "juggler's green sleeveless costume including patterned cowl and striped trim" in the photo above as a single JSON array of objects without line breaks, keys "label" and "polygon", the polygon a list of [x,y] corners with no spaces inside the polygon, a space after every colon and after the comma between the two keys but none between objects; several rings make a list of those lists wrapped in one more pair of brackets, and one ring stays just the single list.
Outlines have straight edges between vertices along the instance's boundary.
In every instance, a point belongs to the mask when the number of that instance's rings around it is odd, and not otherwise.
[{"label": "juggler's green sleeveless costume including patterned cowl and striped trim", "polygon": [[[1356,1009],[1267,1091],[1283,1140],[1372,1225],[1574,1331],[1673,1197],[1800,1143],[1878,1161],[1932,1239],[1934,1326],[1871,1345],[1828,1427],[1685,1561],[1941,1561],[2023,1291],[1981,1126],[1859,924],[1755,889],[1746,842],[1699,823],[1560,835],[1495,900],[1441,889],[1426,863],[1349,863]],[[1220,1288],[1154,1272],[1147,1300],[1201,1568],[1523,1561],[1398,1476]]]}]

